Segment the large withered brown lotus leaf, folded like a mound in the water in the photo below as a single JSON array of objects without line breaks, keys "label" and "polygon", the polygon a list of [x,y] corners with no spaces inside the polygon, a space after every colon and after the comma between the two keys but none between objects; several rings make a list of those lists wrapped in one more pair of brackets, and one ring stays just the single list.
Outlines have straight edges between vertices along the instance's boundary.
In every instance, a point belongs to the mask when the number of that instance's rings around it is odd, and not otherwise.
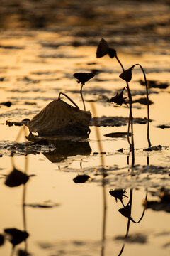
[{"label": "large withered brown lotus leaf, folded like a mound in the water", "polygon": [[79,110],[60,98],[50,102],[26,125],[30,132],[40,135],[76,135],[89,134],[90,111]]}]

